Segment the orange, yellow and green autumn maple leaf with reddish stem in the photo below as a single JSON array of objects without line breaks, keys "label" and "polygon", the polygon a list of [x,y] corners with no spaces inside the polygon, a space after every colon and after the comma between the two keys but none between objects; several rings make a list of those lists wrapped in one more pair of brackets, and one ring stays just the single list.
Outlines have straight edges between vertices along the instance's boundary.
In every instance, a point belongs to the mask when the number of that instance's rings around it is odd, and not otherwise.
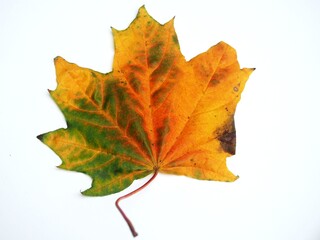
[{"label": "orange, yellow and green autumn maple leaf with reddish stem", "polygon": [[[254,69],[240,69],[224,42],[186,61],[173,19],[162,25],[144,7],[126,30],[112,33],[110,73],[55,58],[58,84],[50,94],[67,128],[38,138],[61,158],[59,167],[89,175],[88,196],[119,192],[154,173],[150,182],[158,172],[236,180],[226,158],[235,154],[234,113]],[[117,207],[126,218],[122,198]]]}]

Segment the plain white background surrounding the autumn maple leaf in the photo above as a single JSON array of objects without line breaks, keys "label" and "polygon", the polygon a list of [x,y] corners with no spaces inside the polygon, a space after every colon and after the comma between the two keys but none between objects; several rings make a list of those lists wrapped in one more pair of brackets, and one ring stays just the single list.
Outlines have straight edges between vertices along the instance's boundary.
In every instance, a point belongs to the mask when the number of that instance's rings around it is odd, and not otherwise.
[{"label": "plain white background surrounding the autumn maple leaf", "polygon": [[65,127],[49,97],[53,58],[109,72],[110,26],[143,4],[173,16],[187,59],[223,40],[256,67],[237,113],[234,183],[160,175],[122,202],[139,239],[320,239],[320,3],[317,0],[19,1],[0,3],[0,239],[132,239],[114,206],[84,197],[89,177],[55,168],[36,139]]}]

